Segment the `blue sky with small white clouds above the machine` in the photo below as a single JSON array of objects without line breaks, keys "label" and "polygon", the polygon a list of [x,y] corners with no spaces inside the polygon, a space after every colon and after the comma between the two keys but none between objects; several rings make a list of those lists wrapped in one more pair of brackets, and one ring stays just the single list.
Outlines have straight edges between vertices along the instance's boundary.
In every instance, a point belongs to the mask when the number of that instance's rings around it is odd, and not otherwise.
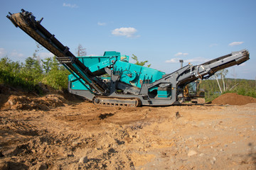
[{"label": "blue sky with small white clouds above the machine", "polygon": [[[228,77],[256,79],[256,1],[106,1],[9,0],[0,2],[0,58],[23,62],[36,42],[6,18],[21,8],[75,54],[78,44],[87,55],[118,51],[148,60],[166,73],[184,64],[201,64],[247,49],[250,60],[229,69]],[[51,54],[40,51],[41,59]],[[132,61],[131,61],[132,62]]]}]

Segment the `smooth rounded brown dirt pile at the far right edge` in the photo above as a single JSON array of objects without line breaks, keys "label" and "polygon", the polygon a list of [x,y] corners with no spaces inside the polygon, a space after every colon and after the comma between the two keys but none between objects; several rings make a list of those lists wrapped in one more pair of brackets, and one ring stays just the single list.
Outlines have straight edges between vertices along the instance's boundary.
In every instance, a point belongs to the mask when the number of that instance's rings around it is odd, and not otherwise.
[{"label": "smooth rounded brown dirt pile at the far right edge", "polygon": [[220,104],[220,105],[245,105],[247,103],[256,103],[256,98],[252,98],[250,96],[242,96],[239,94],[223,94],[218,98],[215,98],[212,104]]}]

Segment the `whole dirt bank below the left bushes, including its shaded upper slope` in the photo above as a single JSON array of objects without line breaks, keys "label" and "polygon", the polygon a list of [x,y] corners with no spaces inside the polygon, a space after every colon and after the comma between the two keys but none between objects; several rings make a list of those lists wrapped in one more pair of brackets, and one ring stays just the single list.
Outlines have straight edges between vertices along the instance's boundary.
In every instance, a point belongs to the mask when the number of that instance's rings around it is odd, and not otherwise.
[{"label": "whole dirt bank below the left bushes, including its shaded upper slope", "polygon": [[4,110],[42,110],[65,106],[68,103],[84,101],[84,98],[58,91],[45,84],[39,84],[43,90],[43,97],[36,93],[14,88],[6,84],[0,84],[0,111]]}]

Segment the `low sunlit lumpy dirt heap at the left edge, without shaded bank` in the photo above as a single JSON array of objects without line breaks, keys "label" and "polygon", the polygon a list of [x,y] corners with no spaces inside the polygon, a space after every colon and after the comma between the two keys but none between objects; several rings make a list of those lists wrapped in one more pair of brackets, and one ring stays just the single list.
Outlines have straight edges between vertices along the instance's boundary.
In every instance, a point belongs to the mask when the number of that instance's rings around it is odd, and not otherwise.
[{"label": "low sunlit lumpy dirt heap at the left edge, without shaded bank", "polygon": [[64,106],[67,101],[59,94],[48,94],[43,97],[28,97],[11,95],[8,101],[1,106],[1,110],[43,110],[48,111],[51,107]]}]

